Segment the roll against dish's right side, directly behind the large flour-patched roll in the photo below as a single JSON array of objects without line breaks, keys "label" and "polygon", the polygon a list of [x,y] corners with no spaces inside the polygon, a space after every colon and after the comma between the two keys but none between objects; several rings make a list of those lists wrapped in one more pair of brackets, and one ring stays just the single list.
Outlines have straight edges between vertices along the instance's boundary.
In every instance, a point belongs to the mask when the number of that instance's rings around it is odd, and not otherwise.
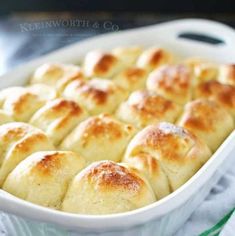
[{"label": "roll against dish's right side, directly behind the large flour-patched roll", "polygon": [[202,139],[214,152],[233,130],[233,118],[218,103],[198,99],[186,104],[178,125]]}]

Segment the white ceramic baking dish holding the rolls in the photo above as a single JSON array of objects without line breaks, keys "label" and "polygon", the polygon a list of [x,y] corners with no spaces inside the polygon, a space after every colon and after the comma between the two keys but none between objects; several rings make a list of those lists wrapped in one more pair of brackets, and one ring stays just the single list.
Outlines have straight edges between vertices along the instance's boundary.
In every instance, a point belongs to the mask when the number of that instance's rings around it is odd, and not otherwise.
[{"label": "white ceramic baking dish holding the rolls", "polygon": [[[212,45],[178,37],[180,33],[185,32],[216,37],[224,44]],[[233,29],[208,20],[177,20],[101,35],[58,50],[2,76],[0,88],[23,85],[32,70],[43,62],[76,63],[89,50],[110,49],[115,46],[133,44],[160,45],[181,57],[199,56],[218,62],[235,63]],[[23,231],[22,235],[38,235],[35,232],[60,235],[58,228],[67,229],[75,235],[172,235],[189,218],[228,167],[232,166],[233,162],[235,163],[234,141],[235,132],[186,184],[164,199],[135,211],[105,216],[76,215],[31,204],[2,190],[0,190],[0,210],[18,216],[16,218],[2,213],[2,216],[10,217],[8,220],[13,221],[9,230],[13,232],[12,227],[16,227],[17,235],[21,235],[20,232]],[[38,224],[41,229],[36,229],[37,224],[32,223],[31,220],[47,224]]]}]

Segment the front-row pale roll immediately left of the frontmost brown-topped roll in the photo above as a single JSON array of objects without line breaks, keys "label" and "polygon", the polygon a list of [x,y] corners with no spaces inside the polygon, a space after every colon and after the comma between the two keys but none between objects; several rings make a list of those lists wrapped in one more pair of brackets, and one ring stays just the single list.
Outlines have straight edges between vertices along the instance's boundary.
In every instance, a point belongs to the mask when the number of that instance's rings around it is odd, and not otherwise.
[{"label": "front-row pale roll immediately left of the frontmost brown-topped roll", "polygon": [[26,201],[60,209],[70,181],[84,167],[84,159],[73,152],[36,152],[9,174],[3,189]]}]

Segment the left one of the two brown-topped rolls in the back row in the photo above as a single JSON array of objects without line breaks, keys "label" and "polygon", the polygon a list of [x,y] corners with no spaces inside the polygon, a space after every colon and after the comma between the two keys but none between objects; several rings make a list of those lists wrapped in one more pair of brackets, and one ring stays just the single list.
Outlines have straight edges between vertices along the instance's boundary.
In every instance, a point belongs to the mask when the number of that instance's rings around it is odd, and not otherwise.
[{"label": "left one of the two brown-topped rolls in the back row", "polygon": [[83,69],[87,77],[112,78],[124,66],[113,54],[96,50],[87,53]]}]

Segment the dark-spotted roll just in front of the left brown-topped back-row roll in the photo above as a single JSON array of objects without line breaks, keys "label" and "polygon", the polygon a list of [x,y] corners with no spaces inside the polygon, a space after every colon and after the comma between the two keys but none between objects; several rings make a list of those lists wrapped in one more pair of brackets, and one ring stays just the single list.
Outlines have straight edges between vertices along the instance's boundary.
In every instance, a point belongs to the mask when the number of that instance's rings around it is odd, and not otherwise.
[{"label": "dark-spotted roll just in front of the left brown-topped back-row roll", "polygon": [[113,113],[126,97],[126,92],[106,79],[73,81],[64,90],[63,96],[77,102],[91,115]]}]

